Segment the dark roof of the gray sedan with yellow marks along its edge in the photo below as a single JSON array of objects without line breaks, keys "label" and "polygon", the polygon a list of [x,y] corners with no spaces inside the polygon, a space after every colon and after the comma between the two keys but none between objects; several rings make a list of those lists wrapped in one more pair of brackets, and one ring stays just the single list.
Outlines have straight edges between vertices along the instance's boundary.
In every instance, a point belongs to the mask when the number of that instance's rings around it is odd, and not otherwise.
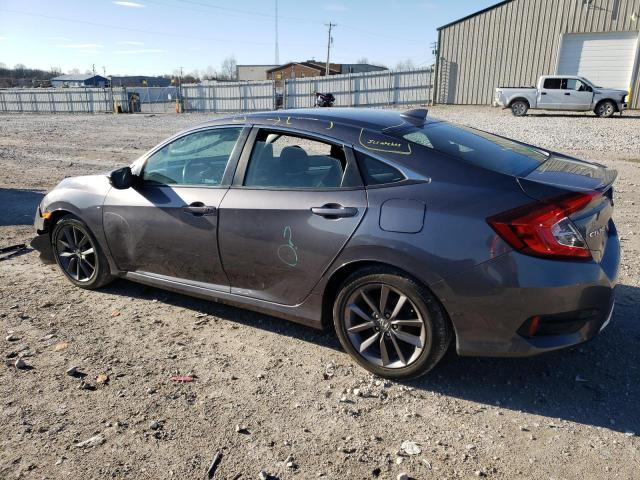
[{"label": "dark roof of the gray sedan with yellow marks along its edge", "polygon": [[[389,127],[398,127],[403,123],[409,125],[402,111],[371,108],[299,108],[269,112],[247,113],[212,120],[211,124],[255,123],[261,125],[290,126],[309,131],[322,131],[324,134],[334,126],[351,129],[371,129],[381,131]],[[426,118],[425,123],[438,120]]]}]

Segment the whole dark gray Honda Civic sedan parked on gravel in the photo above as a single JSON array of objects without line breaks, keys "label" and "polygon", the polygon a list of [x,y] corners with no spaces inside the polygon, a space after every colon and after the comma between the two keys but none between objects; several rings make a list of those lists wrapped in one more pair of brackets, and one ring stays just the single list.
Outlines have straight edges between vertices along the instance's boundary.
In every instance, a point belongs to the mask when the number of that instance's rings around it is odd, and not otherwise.
[{"label": "whole dark gray Honda Civic sedan parked on gravel", "polygon": [[421,375],[527,356],[609,322],[616,172],[432,119],[364,109],[216,119],[40,204],[35,248],[114,278],[334,331],[364,368]]}]

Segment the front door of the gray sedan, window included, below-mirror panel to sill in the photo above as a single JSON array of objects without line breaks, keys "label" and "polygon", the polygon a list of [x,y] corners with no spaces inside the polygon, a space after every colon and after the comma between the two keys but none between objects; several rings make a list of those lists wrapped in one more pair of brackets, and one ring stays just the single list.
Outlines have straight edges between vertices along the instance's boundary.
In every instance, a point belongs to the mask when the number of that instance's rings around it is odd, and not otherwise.
[{"label": "front door of the gray sedan, window included, below-mirror panel to sill", "polygon": [[173,139],[137,166],[138,185],[109,191],[104,230],[118,268],[229,290],[218,207],[248,134],[243,130],[206,128]]}]

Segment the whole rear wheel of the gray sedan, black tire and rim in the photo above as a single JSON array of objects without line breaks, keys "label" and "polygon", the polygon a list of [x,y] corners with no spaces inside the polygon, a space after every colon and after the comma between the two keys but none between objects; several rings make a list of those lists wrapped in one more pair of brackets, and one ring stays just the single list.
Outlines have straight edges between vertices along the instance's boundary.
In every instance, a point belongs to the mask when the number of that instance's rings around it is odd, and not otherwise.
[{"label": "whole rear wheel of the gray sedan, black tire and rim", "polygon": [[433,294],[413,278],[386,267],[358,270],[343,282],[333,322],[342,347],[362,367],[394,380],[427,373],[446,353],[453,336],[447,314]]}]

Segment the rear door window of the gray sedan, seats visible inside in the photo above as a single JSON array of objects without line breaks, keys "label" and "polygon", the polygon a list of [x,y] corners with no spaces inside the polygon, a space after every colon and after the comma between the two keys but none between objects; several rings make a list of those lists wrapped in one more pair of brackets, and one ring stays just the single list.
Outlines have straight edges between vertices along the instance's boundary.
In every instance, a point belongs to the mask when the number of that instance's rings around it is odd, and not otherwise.
[{"label": "rear door window of the gray sedan, seats visible inside", "polygon": [[261,130],[251,152],[244,185],[262,188],[339,188],[346,169],[341,146]]}]

